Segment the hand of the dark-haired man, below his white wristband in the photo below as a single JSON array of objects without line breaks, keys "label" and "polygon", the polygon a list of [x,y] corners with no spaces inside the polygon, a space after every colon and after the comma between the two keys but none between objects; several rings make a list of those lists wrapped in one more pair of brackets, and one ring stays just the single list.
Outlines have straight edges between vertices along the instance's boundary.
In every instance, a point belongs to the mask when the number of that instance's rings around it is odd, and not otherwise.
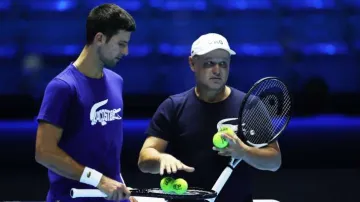
[{"label": "hand of the dark-haired man, below his white wristband", "polygon": [[129,199],[131,194],[124,184],[112,180],[106,176],[102,176],[97,188],[107,195],[107,200],[118,201],[123,199]]}]

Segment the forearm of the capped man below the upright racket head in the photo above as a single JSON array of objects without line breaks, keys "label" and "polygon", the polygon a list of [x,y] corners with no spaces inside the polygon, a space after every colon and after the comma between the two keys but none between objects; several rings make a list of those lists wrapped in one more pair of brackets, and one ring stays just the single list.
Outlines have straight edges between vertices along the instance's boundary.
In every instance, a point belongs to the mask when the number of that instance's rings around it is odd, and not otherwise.
[{"label": "forearm of the capped man below the upright racket head", "polygon": [[281,165],[281,154],[272,147],[250,147],[246,150],[243,160],[259,170],[276,171]]}]

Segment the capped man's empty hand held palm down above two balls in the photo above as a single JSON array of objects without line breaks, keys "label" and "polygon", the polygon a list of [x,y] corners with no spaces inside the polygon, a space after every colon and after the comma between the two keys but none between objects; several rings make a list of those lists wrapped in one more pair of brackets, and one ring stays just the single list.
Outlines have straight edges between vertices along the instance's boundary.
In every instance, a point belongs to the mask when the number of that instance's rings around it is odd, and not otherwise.
[{"label": "capped man's empty hand held palm down above two balls", "polygon": [[195,168],[183,164],[181,161],[177,160],[170,154],[160,154],[159,162],[160,175],[164,174],[165,169],[168,174],[176,173],[178,170],[183,170],[186,172],[194,172],[195,170]]}]

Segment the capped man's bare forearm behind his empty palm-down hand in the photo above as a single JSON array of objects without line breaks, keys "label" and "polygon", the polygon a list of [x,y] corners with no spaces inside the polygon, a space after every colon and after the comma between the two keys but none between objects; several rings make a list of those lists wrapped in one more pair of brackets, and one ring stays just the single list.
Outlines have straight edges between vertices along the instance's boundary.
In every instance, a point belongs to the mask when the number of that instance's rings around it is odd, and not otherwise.
[{"label": "capped man's bare forearm behind his empty palm-down hand", "polygon": [[154,148],[146,148],[140,152],[139,169],[144,173],[158,174],[160,172],[161,153]]}]

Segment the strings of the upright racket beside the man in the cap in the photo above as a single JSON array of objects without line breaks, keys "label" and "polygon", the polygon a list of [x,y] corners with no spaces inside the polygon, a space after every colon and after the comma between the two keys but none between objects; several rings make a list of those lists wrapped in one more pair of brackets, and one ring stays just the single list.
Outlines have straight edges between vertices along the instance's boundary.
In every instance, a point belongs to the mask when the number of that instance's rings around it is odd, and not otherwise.
[{"label": "strings of the upright racket beside the man in the cap", "polygon": [[244,106],[242,130],[252,144],[275,139],[290,117],[291,99],[287,88],[277,80],[267,80],[252,90]]}]

